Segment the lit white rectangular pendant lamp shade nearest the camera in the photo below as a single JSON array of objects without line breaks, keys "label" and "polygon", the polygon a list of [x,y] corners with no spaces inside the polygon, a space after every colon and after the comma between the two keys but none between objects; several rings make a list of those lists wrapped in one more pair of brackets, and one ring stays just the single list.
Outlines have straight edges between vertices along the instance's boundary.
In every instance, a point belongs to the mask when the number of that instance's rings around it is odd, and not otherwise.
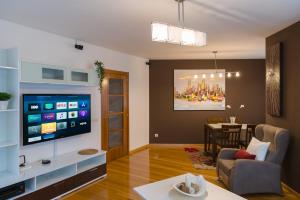
[{"label": "lit white rectangular pendant lamp shade nearest the camera", "polygon": [[206,33],[192,29],[170,26],[154,22],[151,24],[152,41],[167,42],[172,44],[205,46]]}]

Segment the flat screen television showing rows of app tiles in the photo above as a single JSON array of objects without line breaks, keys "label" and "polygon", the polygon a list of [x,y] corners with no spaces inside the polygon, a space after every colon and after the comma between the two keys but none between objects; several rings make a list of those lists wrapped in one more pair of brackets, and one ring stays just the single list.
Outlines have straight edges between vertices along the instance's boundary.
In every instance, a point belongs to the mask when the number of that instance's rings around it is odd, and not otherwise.
[{"label": "flat screen television showing rows of app tiles", "polygon": [[23,94],[23,145],[89,132],[89,94]]}]

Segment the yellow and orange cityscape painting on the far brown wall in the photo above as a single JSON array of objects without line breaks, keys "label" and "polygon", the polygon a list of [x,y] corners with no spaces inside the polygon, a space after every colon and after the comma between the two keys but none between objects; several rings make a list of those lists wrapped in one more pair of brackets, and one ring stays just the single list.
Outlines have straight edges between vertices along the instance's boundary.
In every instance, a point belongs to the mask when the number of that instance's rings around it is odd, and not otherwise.
[{"label": "yellow and orange cityscape painting on the far brown wall", "polygon": [[225,110],[225,69],[174,70],[174,110]]}]

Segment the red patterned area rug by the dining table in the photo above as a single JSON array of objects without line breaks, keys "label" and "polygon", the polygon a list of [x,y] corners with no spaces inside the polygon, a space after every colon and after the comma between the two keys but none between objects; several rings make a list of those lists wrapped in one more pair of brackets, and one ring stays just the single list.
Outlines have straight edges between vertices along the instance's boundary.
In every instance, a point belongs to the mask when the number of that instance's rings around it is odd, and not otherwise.
[{"label": "red patterned area rug by the dining table", "polygon": [[186,147],[184,151],[191,159],[195,169],[216,169],[212,157],[205,156],[203,150]]}]

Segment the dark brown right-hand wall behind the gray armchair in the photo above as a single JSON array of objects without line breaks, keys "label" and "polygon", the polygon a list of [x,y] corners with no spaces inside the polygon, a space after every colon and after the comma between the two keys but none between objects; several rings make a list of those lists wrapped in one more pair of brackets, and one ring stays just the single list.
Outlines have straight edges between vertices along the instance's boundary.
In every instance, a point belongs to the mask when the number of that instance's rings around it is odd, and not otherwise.
[{"label": "dark brown right-hand wall behind the gray armchair", "polygon": [[266,115],[266,122],[291,131],[283,179],[300,192],[300,21],[269,36],[266,46],[281,42],[282,117]]}]

